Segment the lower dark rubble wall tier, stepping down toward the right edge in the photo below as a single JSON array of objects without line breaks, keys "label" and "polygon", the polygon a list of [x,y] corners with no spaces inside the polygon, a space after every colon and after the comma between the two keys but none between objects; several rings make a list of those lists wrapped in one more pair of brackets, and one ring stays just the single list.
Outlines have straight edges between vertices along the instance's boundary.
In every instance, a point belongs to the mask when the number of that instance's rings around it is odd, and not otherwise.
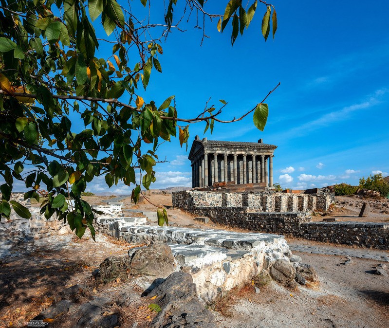
[{"label": "lower dark rubble wall tier, stepping down toward the right edge", "polygon": [[250,207],[199,206],[189,212],[241,229],[389,250],[389,223],[311,222],[307,212],[258,212]]}]

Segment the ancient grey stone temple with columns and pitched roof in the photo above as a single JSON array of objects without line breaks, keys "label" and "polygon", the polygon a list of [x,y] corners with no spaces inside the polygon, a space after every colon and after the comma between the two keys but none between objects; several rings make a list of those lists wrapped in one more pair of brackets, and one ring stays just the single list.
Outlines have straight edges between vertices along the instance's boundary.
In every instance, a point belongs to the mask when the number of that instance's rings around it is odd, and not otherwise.
[{"label": "ancient grey stone temple with columns and pitched roof", "polygon": [[277,146],[195,137],[189,152],[192,187],[214,182],[260,183],[273,186],[273,153]]}]

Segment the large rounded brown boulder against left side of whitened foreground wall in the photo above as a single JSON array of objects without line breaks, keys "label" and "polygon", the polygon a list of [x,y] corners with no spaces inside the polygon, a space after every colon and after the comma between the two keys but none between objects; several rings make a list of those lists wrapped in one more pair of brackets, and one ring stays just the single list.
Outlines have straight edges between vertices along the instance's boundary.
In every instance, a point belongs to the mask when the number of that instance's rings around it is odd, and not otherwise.
[{"label": "large rounded brown boulder against left side of whitened foreground wall", "polygon": [[174,271],[174,257],[166,244],[151,244],[130,255],[130,273],[165,278]]}]

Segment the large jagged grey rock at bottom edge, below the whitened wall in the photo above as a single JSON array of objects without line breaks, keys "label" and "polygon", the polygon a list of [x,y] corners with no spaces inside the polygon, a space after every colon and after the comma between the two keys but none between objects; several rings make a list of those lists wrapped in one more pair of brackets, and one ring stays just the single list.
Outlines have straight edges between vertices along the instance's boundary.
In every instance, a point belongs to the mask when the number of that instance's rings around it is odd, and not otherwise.
[{"label": "large jagged grey rock at bottom edge, below the whitened wall", "polygon": [[215,319],[209,310],[198,301],[196,285],[189,273],[175,272],[148,298],[157,296],[153,302],[161,307],[151,323],[154,328],[216,328]]}]

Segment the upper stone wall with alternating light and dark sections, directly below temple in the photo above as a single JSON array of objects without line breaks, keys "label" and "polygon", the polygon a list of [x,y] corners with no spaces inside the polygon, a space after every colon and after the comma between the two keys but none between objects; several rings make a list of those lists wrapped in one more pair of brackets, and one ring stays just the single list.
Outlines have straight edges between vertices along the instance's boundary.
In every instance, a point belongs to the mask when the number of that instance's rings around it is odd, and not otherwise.
[{"label": "upper stone wall with alternating light and dark sections, directly below temple", "polygon": [[333,203],[332,193],[285,194],[274,192],[204,192],[185,190],[171,195],[174,207],[187,211],[198,207],[248,207],[259,212],[327,211]]}]

